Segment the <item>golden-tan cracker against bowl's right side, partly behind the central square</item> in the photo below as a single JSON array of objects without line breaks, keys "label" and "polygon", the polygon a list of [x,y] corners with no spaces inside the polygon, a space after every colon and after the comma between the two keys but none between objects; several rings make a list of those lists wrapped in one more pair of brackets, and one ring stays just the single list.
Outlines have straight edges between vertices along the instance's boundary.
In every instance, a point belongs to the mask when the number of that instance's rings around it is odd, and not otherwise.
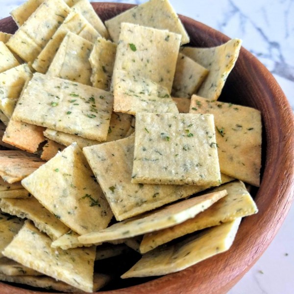
[{"label": "golden-tan cracker against bowl's right side, partly behind the central square", "polygon": [[232,103],[209,101],[195,95],[191,99],[190,112],[214,115],[221,172],[259,187],[260,111]]}]

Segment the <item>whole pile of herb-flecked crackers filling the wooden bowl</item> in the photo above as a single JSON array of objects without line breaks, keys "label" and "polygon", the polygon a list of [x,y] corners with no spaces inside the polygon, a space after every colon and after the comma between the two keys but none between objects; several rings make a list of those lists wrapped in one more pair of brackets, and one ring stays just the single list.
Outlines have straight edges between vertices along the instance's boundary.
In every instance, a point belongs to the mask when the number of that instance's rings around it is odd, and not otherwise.
[{"label": "whole pile of herb-flecked crackers filling the wooden bowl", "polygon": [[241,41],[183,46],[168,0],[105,24],[88,0],[27,0],[11,15],[0,280],[91,293],[228,250],[258,211],[261,168],[260,112],[218,101]]}]

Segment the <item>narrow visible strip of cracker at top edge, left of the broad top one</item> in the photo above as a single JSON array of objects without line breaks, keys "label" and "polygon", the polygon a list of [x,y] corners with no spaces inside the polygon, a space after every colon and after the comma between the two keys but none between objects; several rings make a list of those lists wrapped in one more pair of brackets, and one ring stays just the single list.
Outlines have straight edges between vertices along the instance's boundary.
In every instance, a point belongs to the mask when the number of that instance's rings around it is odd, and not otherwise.
[{"label": "narrow visible strip of cracker at top edge, left of the broad top one", "polygon": [[104,37],[108,38],[108,31],[103,24],[103,22],[98,17],[96,11],[88,0],[78,0],[74,1],[72,6],[73,11],[81,13],[88,22],[93,25],[93,27],[98,31],[98,33]]}]

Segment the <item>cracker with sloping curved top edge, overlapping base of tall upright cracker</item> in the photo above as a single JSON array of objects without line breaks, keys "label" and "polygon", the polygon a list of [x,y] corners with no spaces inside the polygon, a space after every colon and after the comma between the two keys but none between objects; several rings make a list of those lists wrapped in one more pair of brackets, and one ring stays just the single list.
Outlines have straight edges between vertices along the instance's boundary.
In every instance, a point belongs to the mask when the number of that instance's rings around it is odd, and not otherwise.
[{"label": "cracker with sloping curved top edge, overlapping base of tall upright cracker", "polygon": [[137,112],[178,113],[167,88],[133,73],[116,71],[113,75],[114,110],[135,115]]}]

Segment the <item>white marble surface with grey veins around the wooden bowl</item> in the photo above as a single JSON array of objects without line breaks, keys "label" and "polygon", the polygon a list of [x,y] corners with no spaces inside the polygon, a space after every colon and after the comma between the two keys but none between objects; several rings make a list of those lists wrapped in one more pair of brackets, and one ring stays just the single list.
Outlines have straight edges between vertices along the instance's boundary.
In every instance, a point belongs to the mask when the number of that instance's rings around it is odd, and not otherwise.
[{"label": "white marble surface with grey veins around the wooden bowl", "polygon": [[[243,46],[273,73],[294,109],[294,0],[170,1],[178,13],[231,38],[243,39]],[[22,2],[0,0],[0,19]],[[229,294],[248,293],[294,293],[294,206],[269,248],[229,291]]]}]

